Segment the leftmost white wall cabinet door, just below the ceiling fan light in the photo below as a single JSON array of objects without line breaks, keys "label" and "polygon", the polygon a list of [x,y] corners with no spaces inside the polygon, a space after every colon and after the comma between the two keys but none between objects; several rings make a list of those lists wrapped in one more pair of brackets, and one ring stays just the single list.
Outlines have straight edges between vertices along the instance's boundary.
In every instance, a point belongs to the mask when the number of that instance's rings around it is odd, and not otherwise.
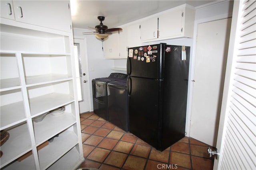
[{"label": "leftmost white wall cabinet door, just below the ceiling fan light", "polygon": [[119,58],[119,34],[113,33],[104,40],[104,57],[107,59]]}]

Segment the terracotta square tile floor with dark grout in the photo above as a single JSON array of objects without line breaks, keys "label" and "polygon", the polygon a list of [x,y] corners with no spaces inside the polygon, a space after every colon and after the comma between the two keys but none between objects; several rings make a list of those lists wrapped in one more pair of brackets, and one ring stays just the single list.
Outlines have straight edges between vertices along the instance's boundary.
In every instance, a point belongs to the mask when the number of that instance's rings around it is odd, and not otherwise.
[{"label": "terracotta square tile floor with dark grout", "polygon": [[93,112],[80,115],[85,161],[78,168],[99,170],[212,170],[208,145],[184,137],[160,152]]}]

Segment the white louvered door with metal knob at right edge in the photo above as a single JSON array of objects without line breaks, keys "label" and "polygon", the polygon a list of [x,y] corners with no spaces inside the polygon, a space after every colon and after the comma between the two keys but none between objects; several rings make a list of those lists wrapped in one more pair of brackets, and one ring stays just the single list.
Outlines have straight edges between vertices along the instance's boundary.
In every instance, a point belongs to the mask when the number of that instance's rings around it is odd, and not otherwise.
[{"label": "white louvered door with metal knob at right edge", "polygon": [[[236,23],[237,21],[237,23]],[[234,24],[235,23],[235,24]],[[234,1],[214,169],[256,169],[256,1]],[[229,65],[228,65],[229,64]]]}]

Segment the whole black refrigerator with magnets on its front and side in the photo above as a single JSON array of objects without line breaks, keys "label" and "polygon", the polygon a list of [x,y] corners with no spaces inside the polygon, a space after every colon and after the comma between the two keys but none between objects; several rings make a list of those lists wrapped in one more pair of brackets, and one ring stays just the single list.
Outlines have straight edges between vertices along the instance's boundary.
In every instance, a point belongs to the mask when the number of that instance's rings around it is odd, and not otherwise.
[{"label": "whole black refrigerator with magnets on its front and side", "polygon": [[185,136],[190,47],[128,48],[130,132],[164,150]]}]

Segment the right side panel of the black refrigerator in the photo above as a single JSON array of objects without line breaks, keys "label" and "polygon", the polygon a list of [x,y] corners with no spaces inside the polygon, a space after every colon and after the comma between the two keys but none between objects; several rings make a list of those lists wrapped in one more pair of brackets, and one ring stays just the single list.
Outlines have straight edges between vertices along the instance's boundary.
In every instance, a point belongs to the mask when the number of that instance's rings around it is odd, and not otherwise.
[{"label": "right side panel of the black refrigerator", "polygon": [[164,55],[162,149],[185,135],[190,55],[190,47],[185,48],[185,60],[182,60],[182,46],[166,45],[165,48],[170,51],[167,50]]}]

